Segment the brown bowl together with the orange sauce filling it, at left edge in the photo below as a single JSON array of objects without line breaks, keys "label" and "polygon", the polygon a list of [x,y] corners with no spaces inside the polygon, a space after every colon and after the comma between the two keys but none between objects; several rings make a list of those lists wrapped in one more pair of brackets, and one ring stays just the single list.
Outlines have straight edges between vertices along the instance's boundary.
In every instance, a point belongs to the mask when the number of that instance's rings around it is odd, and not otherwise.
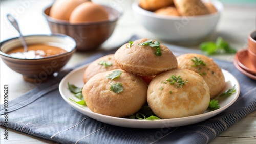
[{"label": "brown bowl together with the orange sauce filling it, at left edge", "polygon": [[76,51],[75,40],[62,34],[29,35],[24,39],[28,45],[26,52],[15,37],[0,43],[0,56],[8,67],[34,84],[52,78]]}]

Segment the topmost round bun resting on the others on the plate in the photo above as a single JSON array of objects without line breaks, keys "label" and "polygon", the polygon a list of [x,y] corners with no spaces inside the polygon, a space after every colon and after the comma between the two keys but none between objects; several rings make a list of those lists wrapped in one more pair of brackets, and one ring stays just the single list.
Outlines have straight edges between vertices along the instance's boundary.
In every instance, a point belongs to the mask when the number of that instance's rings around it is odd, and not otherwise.
[{"label": "topmost round bun resting on the others on the plate", "polygon": [[[150,46],[147,42],[154,44]],[[115,53],[115,61],[121,69],[138,76],[153,76],[177,67],[177,59],[172,51],[146,38],[135,40],[132,45],[126,43],[121,46]]]}]

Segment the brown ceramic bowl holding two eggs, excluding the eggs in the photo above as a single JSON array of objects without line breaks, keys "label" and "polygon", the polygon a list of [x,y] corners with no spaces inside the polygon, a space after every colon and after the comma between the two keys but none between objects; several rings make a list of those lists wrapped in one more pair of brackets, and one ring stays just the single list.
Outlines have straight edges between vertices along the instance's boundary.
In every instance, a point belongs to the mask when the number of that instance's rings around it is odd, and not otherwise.
[{"label": "brown ceramic bowl holding two eggs, excluding the eggs", "polygon": [[44,10],[44,16],[53,33],[61,33],[75,39],[77,51],[92,51],[97,49],[113,33],[121,10],[103,6],[109,12],[109,20],[71,24],[66,20],[58,20],[49,16],[51,7]]}]

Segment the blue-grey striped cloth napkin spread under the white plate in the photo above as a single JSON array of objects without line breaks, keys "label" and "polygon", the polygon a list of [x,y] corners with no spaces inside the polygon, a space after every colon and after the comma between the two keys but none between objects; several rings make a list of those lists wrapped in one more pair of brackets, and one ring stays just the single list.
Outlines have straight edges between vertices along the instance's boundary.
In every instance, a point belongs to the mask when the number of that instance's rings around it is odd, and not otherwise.
[{"label": "blue-grey striped cloth napkin spread under the white plate", "polygon": [[[173,52],[180,52],[176,55],[191,52],[182,47],[171,47]],[[81,65],[114,53],[115,50],[93,55]],[[58,85],[69,69],[10,101],[7,111],[1,105],[1,125],[5,126],[4,116],[7,114],[8,128],[60,143],[208,143],[256,110],[256,81],[241,74],[230,62],[215,62],[238,79],[241,92],[228,109],[200,123],[172,128],[137,129],[96,121],[76,111],[62,99]]]}]

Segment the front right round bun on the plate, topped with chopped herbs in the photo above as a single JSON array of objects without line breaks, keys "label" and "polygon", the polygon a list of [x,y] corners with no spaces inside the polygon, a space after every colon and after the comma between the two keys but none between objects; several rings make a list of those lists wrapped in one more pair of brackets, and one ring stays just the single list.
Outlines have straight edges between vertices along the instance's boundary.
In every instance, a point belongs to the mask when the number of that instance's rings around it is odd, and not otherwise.
[{"label": "front right round bun on the plate, topped with chopped herbs", "polygon": [[188,69],[173,69],[157,75],[147,90],[147,103],[161,119],[202,114],[209,106],[209,87]]}]

